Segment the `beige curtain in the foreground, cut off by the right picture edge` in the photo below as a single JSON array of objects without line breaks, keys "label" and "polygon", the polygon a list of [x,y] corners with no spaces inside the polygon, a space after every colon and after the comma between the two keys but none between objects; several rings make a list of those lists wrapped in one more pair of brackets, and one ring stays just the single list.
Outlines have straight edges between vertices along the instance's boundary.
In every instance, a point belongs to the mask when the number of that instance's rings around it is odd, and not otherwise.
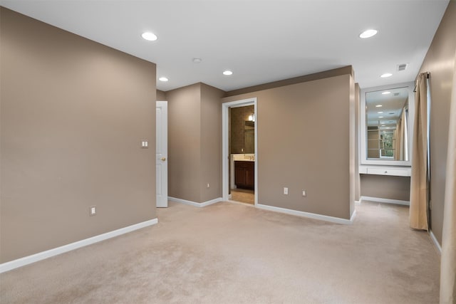
[{"label": "beige curtain in the foreground, cut off by the right picture edge", "polygon": [[448,132],[442,258],[440,262],[440,303],[456,303],[456,63],[453,75],[450,130]]}]

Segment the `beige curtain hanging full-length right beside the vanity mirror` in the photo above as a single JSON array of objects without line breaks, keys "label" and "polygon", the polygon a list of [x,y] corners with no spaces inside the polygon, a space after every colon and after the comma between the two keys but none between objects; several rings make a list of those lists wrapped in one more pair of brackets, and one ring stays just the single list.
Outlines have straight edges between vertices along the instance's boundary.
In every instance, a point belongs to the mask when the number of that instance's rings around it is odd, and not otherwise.
[{"label": "beige curtain hanging full-length right beside the vanity mirror", "polygon": [[416,80],[413,125],[410,227],[427,230],[427,73]]}]

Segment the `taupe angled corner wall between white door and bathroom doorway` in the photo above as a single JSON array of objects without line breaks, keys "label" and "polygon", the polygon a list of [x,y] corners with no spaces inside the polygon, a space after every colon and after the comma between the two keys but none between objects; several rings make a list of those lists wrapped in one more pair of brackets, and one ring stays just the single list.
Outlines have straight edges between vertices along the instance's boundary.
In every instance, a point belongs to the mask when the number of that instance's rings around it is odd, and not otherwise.
[{"label": "taupe angled corner wall between white door and bathroom doorway", "polygon": [[223,94],[203,83],[165,93],[170,196],[198,203],[222,196]]}]

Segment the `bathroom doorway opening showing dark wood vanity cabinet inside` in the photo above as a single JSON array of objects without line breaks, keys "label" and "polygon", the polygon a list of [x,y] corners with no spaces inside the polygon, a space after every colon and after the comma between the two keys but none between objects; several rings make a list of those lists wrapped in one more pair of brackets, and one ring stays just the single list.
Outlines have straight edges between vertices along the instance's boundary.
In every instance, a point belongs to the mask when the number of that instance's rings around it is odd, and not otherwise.
[{"label": "bathroom doorway opening showing dark wood vanity cabinet inside", "polygon": [[222,105],[223,199],[257,204],[257,99]]}]

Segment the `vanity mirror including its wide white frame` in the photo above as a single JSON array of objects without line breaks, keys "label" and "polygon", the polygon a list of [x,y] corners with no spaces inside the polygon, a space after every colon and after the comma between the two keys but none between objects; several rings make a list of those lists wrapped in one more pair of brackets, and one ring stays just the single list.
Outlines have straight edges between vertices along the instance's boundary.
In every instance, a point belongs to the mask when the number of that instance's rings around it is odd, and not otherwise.
[{"label": "vanity mirror including its wide white frame", "polygon": [[410,165],[413,83],[361,90],[361,164]]}]

